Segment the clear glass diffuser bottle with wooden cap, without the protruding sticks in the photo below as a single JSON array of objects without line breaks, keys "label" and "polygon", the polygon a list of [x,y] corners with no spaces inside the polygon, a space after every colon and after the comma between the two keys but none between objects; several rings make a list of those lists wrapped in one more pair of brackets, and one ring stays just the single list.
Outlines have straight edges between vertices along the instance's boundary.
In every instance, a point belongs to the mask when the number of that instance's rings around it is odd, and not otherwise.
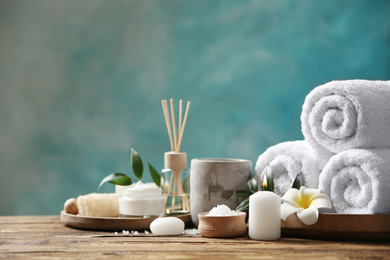
[{"label": "clear glass diffuser bottle with wooden cap, without the protruding sticks", "polygon": [[190,170],[187,154],[166,152],[161,172],[161,187],[165,195],[165,214],[178,215],[190,212]]}]

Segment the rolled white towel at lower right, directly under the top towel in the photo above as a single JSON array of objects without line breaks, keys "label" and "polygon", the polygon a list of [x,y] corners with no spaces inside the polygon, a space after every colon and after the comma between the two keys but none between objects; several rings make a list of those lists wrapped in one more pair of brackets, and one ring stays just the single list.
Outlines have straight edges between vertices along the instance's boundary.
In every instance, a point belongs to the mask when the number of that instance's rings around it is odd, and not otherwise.
[{"label": "rolled white towel at lower right, directly under the top towel", "polygon": [[333,156],[319,189],[337,213],[390,213],[390,149],[351,149]]}]

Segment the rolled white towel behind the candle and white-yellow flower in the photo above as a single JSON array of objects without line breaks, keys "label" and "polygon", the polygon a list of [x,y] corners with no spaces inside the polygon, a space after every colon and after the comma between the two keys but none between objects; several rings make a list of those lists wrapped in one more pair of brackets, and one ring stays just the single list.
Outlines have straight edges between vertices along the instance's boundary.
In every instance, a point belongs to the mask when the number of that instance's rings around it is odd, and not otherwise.
[{"label": "rolled white towel behind the candle and white-yellow flower", "polygon": [[318,186],[318,160],[315,151],[306,141],[279,143],[261,154],[255,165],[256,178],[262,183],[264,168],[270,165],[274,180],[274,192],[283,196],[298,174],[308,188]]}]

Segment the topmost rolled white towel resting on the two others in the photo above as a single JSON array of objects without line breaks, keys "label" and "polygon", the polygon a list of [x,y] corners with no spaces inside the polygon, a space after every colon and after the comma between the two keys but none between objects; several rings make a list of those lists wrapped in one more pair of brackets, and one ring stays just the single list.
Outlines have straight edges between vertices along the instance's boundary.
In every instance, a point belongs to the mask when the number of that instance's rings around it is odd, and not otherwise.
[{"label": "topmost rolled white towel resting on the two others", "polygon": [[319,86],[307,95],[301,121],[305,140],[322,158],[352,148],[390,147],[390,81]]}]

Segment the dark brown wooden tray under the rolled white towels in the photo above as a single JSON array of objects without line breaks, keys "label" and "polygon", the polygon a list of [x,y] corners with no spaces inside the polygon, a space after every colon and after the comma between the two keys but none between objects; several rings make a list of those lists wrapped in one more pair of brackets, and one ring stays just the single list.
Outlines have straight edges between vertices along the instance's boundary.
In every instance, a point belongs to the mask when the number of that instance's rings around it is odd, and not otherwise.
[{"label": "dark brown wooden tray under the rolled white towels", "polygon": [[318,222],[307,226],[296,214],[281,222],[282,235],[332,240],[388,240],[390,215],[321,213]]}]

